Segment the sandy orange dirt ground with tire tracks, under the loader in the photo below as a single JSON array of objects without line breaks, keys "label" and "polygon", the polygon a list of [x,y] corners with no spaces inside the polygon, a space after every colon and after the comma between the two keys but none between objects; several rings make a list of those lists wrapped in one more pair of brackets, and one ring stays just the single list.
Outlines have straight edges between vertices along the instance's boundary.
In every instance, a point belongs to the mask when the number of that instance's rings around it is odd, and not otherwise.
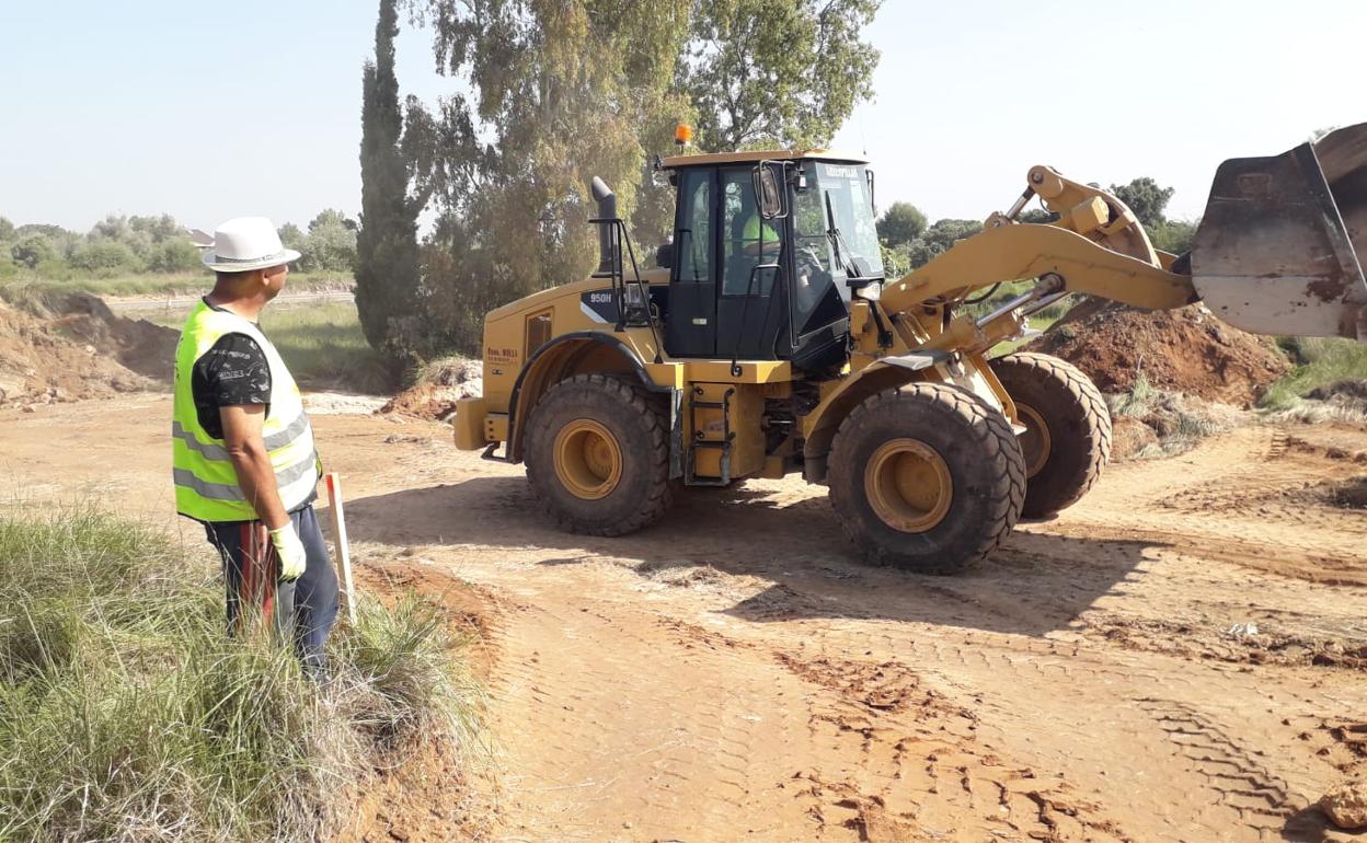
[{"label": "sandy orange dirt ground with tire tracks, under the loader", "polygon": [[[175,523],[168,418],[0,411],[0,485]],[[581,538],[439,425],[316,425],[358,564],[491,594],[492,839],[1355,839],[1312,805],[1367,764],[1367,432],[1117,465],[927,578],[853,562],[796,480]]]}]

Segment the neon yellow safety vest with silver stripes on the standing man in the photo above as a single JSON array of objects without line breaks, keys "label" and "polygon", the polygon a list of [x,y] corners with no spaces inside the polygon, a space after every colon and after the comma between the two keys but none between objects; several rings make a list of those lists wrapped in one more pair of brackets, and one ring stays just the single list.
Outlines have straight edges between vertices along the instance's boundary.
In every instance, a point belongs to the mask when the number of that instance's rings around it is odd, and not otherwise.
[{"label": "neon yellow safety vest with silver stripes on the standing man", "polygon": [[252,521],[258,516],[254,501],[246,500],[238,485],[227,445],[200,425],[194,407],[194,365],[227,333],[252,337],[271,369],[271,403],[261,433],[284,508],[293,510],[309,500],[320,474],[313,429],[303,411],[299,388],[275,346],[254,324],[201,301],[186,318],[176,346],[175,417],[171,421],[176,510],[198,521]]}]

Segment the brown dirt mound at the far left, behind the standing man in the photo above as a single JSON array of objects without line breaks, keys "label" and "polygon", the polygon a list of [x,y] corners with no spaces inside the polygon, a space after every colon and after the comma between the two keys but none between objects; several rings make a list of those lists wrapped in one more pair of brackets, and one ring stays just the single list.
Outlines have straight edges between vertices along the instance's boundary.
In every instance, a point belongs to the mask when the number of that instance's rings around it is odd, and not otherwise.
[{"label": "brown dirt mound at the far left, behind the standing man", "polygon": [[[55,320],[0,302],[0,404],[33,407],[154,389],[148,374],[170,376],[174,331],[116,317],[94,296],[70,302],[74,310]],[[171,335],[170,346],[160,332]],[[165,366],[152,366],[163,353]]]}]

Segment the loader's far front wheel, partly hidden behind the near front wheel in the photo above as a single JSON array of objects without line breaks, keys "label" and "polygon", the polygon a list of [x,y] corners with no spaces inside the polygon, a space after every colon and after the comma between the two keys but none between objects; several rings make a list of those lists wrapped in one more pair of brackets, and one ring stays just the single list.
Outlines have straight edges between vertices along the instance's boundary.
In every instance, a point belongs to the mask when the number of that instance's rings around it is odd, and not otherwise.
[{"label": "loader's far front wheel, partly hidden behind the near front wheel", "polygon": [[1025,456],[1027,518],[1066,510],[1096,484],[1110,459],[1110,411],[1100,391],[1077,366],[1023,351],[991,362],[1016,403]]}]

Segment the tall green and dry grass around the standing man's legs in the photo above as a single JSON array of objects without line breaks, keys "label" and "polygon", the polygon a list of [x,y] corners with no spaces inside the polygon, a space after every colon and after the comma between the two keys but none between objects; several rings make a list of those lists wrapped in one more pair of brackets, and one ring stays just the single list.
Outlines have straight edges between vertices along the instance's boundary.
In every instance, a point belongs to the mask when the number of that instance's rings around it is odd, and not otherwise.
[{"label": "tall green and dry grass around the standing man's legs", "polygon": [[0,514],[0,840],[305,840],[418,738],[463,743],[436,609],[366,601],[306,679],[211,566],[81,510]]}]

